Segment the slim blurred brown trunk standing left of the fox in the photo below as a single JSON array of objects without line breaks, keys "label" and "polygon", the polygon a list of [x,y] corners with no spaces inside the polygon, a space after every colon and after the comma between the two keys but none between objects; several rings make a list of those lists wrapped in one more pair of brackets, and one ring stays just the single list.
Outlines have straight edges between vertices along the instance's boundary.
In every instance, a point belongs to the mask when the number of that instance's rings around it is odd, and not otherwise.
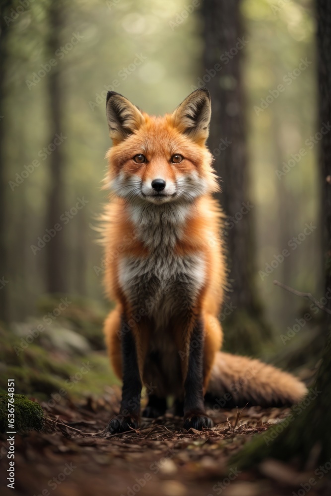
[{"label": "slim blurred brown trunk standing left of the fox", "polygon": [[[61,47],[61,28],[63,25],[63,4],[52,0],[49,7],[50,33],[48,52],[54,58],[55,52]],[[53,143],[56,134],[63,132],[63,94],[61,67],[55,66],[47,75],[49,94],[50,139]],[[54,229],[61,224],[60,216],[64,212],[64,151],[63,144],[56,146],[49,157],[50,191],[46,215],[46,228]],[[49,293],[66,291],[66,245],[64,230],[57,231],[54,238],[46,244],[46,288]]]}]

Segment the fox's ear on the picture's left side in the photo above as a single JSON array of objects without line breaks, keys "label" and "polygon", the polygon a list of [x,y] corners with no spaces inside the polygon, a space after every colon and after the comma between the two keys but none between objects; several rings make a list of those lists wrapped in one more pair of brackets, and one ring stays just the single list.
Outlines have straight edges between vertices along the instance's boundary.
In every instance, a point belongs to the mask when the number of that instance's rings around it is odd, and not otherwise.
[{"label": "fox's ear on the picture's left side", "polygon": [[144,122],[139,109],[115,91],[107,93],[106,114],[109,134],[114,143],[126,139]]}]

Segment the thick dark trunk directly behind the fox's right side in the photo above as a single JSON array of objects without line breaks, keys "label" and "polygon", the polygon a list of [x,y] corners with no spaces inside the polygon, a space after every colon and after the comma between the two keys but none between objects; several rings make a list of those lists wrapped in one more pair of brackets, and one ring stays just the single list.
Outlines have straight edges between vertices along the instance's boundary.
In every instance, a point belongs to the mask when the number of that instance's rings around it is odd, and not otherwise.
[{"label": "thick dark trunk directly behind the fox's right side", "polygon": [[258,354],[271,329],[265,323],[254,281],[257,273],[254,205],[249,201],[241,67],[246,42],[240,4],[240,0],[203,2],[206,69],[203,81],[207,81],[212,100],[209,148],[222,179],[219,201],[228,216],[224,234],[229,252],[230,301],[235,310],[224,322],[225,348],[235,353]]}]

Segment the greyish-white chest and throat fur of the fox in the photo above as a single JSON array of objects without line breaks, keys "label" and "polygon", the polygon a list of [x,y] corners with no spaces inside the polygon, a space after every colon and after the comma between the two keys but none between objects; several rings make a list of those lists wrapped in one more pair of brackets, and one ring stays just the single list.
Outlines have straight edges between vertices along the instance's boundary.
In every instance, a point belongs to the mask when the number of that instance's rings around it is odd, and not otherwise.
[{"label": "greyish-white chest and throat fur of the fox", "polygon": [[188,207],[173,204],[132,207],[136,235],[148,248],[144,257],[123,257],[119,283],[135,311],[143,310],[155,321],[194,305],[205,281],[202,252],[177,255],[176,242],[183,236]]}]

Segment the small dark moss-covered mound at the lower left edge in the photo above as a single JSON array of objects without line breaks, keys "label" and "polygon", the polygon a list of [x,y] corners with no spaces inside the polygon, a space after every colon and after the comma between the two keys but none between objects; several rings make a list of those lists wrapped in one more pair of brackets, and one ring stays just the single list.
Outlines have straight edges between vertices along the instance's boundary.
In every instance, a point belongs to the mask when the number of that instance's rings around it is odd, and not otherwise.
[{"label": "small dark moss-covered mound at the lower left edge", "polygon": [[[0,395],[0,432],[4,433],[11,431],[8,429],[8,400],[9,396],[6,394]],[[44,412],[38,403],[30,401],[23,394],[14,395],[13,406],[14,412],[14,429],[18,433],[25,431],[43,431],[44,429]],[[9,403],[10,406],[12,403]]]}]

